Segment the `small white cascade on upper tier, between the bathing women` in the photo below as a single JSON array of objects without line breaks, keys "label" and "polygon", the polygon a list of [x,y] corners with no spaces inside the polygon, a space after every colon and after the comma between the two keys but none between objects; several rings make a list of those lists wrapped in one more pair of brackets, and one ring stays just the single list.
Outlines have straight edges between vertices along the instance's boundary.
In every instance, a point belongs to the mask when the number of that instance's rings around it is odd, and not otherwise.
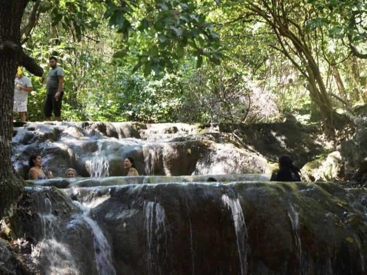
[{"label": "small white cascade on upper tier, between the bathing women", "polygon": [[98,141],[98,149],[94,153],[94,156],[85,162],[86,167],[89,169],[91,177],[108,177],[109,172],[109,162],[107,157],[104,155],[102,150],[102,142]]}]

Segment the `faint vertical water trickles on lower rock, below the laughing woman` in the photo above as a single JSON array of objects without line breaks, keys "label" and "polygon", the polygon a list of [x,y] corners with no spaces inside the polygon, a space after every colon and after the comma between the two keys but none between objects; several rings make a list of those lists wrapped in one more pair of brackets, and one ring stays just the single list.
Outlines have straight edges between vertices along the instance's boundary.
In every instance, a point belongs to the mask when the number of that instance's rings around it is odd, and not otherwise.
[{"label": "faint vertical water trickles on lower rock, below the laughing woman", "polygon": [[[165,211],[158,203],[144,201],[144,215],[146,228],[147,262],[150,272],[154,272],[154,257],[158,256],[161,240],[167,248],[167,235],[165,230]],[[154,223],[155,221],[155,223]],[[157,266],[160,272],[160,266]]]}]

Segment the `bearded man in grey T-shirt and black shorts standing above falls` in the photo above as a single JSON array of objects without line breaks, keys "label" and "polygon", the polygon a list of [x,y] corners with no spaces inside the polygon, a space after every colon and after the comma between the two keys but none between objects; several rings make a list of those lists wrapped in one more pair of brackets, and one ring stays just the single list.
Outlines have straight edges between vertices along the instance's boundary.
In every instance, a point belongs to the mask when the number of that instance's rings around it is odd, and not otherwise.
[{"label": "bearded man in grey T-shirt and black shorts standing above falls", "polygon": [[51,120],[52,111],[54,111],[55,120],[60,121],[64,71],[57,65],[57,58],[54,56],[50,57],[49,66],[51,69],[47,74],[45,117],[46,120]]}]

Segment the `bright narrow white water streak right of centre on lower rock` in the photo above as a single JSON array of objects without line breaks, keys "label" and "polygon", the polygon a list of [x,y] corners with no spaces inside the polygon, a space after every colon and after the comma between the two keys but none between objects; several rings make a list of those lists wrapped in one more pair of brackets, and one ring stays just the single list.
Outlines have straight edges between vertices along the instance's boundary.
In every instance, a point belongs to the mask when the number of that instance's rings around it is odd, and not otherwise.
[{"label": "bright narrow white water streak right of centre on lower rock", "polygon": [[248,243],[248,234],[245,223],[245,218],[243,215],[240,200],[232,199],[228,195],[222,195],[222,202],[226,205],[232,212],[232,218],[235,225],[236,240],[237,240],[237,252],[238,258],[241,264],[241,274],[247,274],[248,262],[247,258],[250,254],[250,245]]}]

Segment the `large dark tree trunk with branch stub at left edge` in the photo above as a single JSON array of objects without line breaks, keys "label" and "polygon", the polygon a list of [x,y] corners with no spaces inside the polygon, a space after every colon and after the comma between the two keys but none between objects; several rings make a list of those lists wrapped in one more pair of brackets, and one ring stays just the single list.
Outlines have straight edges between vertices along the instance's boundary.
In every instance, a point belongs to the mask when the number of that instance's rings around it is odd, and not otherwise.
[{"label": "large dark tree trunk with branch stub at left edge", "polygon": [[36,75],[42,69],[26,56],[21,47],[20,27],[27,0],[0,0],[0,217],[17,202],[24,181],[12,164],[13,98],[17,66]]}]

